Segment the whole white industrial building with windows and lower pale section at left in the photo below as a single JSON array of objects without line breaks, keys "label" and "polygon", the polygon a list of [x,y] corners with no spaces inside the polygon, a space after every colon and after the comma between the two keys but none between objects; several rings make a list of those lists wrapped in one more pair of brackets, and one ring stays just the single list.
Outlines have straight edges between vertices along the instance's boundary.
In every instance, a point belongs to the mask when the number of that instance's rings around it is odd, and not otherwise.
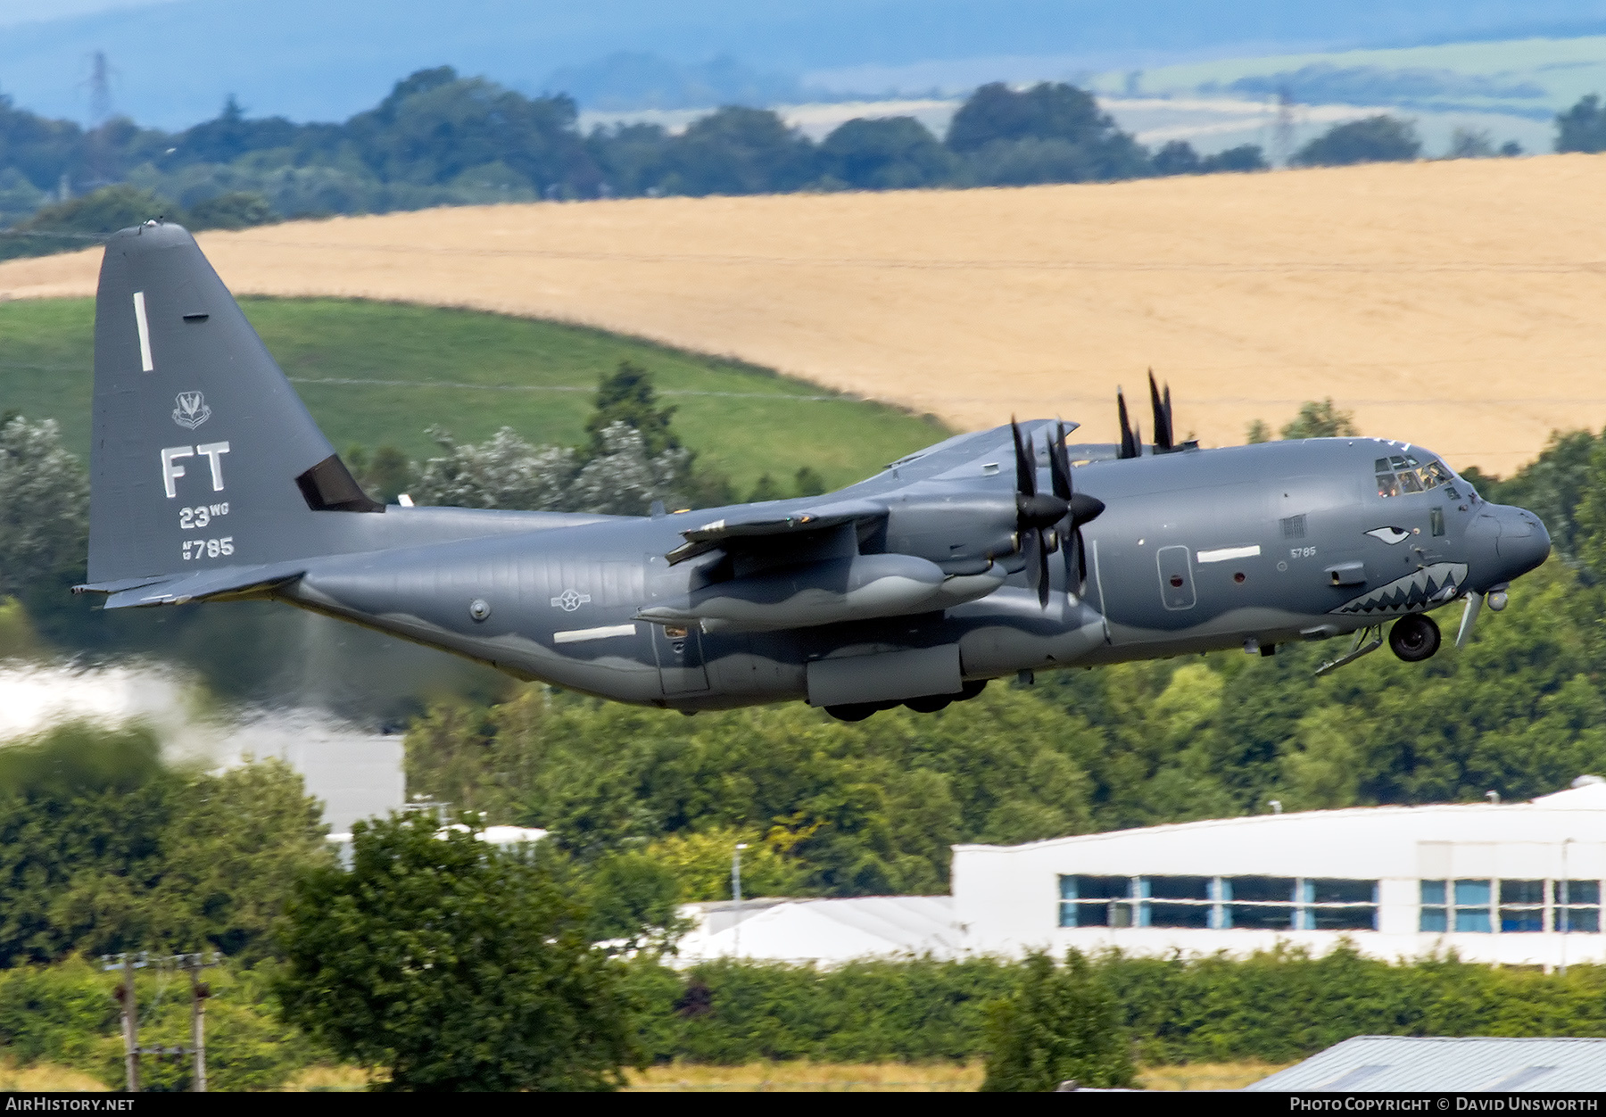
[{"label": "whole white industrial building with windows and lower pale section at left", "polygon": [[952,894],[691,905],[683,963],[740,955],[1013,958],[1070,947],[1606,961],[1606,782],[1532,802],[1214,818],[1025,846],[956,846]]}]

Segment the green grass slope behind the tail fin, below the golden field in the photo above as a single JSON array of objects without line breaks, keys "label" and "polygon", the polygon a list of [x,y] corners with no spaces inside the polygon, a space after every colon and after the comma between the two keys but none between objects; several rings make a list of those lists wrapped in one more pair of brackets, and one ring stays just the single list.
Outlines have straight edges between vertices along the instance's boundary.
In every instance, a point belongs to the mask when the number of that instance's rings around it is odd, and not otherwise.
[{"label": "green grass slope behind the tail fin, below the golden field", "polygon": [[[585,441],[597,377],[622,359],[652,371],[699,462],[739,491],[813,465],[832,486],[946,438],[933,419],[768,369],[578,326],[340,299],[243,299],[279,368],[340,449],[389,443],[414,461],[440,425],[459,441],[512,427],[533,443]],[[0,303],[0,411],[61,422],[88,451],[95,305]]]}]

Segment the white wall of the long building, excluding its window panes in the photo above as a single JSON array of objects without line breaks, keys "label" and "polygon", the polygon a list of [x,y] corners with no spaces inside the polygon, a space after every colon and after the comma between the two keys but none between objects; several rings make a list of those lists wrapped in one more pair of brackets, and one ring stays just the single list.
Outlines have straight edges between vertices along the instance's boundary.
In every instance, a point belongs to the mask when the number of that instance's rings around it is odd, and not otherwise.
[{"label": "white wall of the long building, excluding its window panes", "polygon": [[[1261,928],[1060,926],[1062,876],[1293,878],[1375,881],[1372,928],[1347,931]],[[970,953],[1020,955],[1033,948],[1118,947],[1131,953],[1245,955],[1278,942],[1315,953],[1347,936],[1380,958],[1408,958],[1455,948],[1469,961],[1556,966],[1606,961],[1606,937],[1579,931],[1600,926],[1606,878],[1606,785],[1587,785],[1519,804],[1357,807],[1302,814],[1217,818],[1026,846],[956,846],[954,918]],[[1421,881],[1447,881],[1453,908],[1457,881],[1468,905],[1487,889],[1489,931],[1423,931]],[[1555,897],[1569,879],[1574,904],[1593,896],[1593,913],[1575,907],[1572,928],[1559,932]],[[1479,881],[1486,883],[1479,886]],[[1542,883],[1542,884],[1518,884]],[[1539,908],[1502,908],[1502,884],[1543,894]],[[1219,888],[1219,884],[1213,884]],[[1135,905],[1132,912],[1135,912]],[[1463,923],[1476,921],[1465,907]],[[1357,908],[1359,912],[1359,908]],[[1513,916],[1502,920],[1502,915]],[[1498,929],[1516,916],[1545,929]],[[1301,916],[1296,916],[1301,918]],[[1370,916],[1368,916],[1370,918]],[[1135,921],[1135,920],[1134,920]]]}]

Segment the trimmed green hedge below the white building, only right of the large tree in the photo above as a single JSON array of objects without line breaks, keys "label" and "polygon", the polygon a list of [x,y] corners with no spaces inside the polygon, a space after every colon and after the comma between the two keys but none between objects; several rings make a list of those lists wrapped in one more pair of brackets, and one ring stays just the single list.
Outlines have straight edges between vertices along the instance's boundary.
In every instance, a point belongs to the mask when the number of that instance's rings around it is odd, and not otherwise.
[{"label": "trimmed green hedge below the white building, only right of the large tree", "polygon": [[[1606,969],[1563,977],[1439,958],[1391,965],[1339,948],[1246,960],[1090,960],[1139,1062],[1291,1062],[1352,1035],[1606,1035]],[[642,1035],[654,1059],[968,1059],[981,1006],[1013,989],[996,961],[872,961],[817,973],[708,963],[684,976],[642,966]]]}]

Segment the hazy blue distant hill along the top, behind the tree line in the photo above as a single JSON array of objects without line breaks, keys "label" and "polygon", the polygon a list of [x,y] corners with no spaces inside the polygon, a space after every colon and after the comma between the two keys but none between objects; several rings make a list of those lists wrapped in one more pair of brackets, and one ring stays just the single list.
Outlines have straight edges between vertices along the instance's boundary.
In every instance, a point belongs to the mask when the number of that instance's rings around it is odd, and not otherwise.
[{"label": "hazy blue distant hill along the top, behind the tree line", "polygon": [[[172,128],[214,116],[226,93],[254,114],[340,119],[382,96],[397,74],[442,63],[532,93],[564,67],[594,72],[597,59],[620,51],[678,66],[724,56],[772,88],[785,87],[772,75],[808,82],[821,71],[838,82],[843,72],[882,74],[883,85],[896,85],[906,80],[899,67],[922,63],[1010,59],[1012,72],[991,67],[993,77],[1065,77],[1229,53],[1601,29],[1598,0],[178,0],[5,27],[0,91],[48,116],[84,119],[88,56],[104,50],[117,111]],[[1031,74],[1023,58],[1044,59],[1037,69],[1049,72]],[[919,72],[941,83],[970,69]],[[630,85],[601,82],[593,100],[618,103]]]}]

